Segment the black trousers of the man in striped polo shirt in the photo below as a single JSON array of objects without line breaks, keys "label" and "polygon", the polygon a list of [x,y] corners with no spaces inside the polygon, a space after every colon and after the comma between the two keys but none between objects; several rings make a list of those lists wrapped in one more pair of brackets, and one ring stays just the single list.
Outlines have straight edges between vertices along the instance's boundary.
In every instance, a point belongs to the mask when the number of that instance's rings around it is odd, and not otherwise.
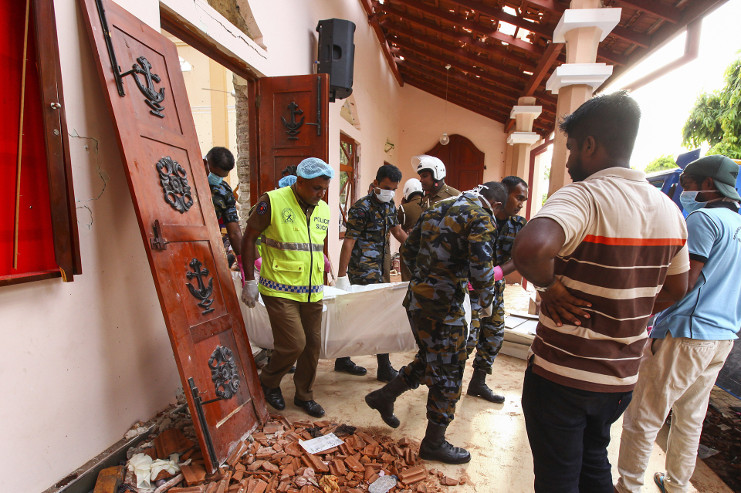
[{"label": "black trousers of the man in striped polo shirt", "polygon": [[589,392],[525,372],[522,411],[533,452],[535,491],[613,493],[610,426],[633,392]]}]

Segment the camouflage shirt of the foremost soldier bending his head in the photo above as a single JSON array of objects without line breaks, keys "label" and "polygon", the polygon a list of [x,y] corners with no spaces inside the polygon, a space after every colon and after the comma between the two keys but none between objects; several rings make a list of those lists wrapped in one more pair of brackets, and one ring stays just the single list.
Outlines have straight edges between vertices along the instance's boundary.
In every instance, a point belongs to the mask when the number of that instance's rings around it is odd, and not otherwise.
[{"label": "camouflage shirt of the foremost soldier bending his head", "polygon": [[402,245],[402,258],[412,272],[404,306],[448,325],[465,325],[469,281],[472,305],[492,303],[495,236],[491,215],[473,194],[443,200],[423,212]]}]

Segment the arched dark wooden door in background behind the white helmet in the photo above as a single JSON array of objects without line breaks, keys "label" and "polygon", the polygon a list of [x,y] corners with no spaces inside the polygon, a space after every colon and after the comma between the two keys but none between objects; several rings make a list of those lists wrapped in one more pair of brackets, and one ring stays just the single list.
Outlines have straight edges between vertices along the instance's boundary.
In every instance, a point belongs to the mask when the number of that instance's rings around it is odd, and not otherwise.
[{"label": "arched dark wooden door in background behind the white helmet", "polygon": [[453,188],[471,190],[484,179],[484,153],[462,135],[451,135],[447,145],[437,144],[425,154],[445,163],[445,183]]}]

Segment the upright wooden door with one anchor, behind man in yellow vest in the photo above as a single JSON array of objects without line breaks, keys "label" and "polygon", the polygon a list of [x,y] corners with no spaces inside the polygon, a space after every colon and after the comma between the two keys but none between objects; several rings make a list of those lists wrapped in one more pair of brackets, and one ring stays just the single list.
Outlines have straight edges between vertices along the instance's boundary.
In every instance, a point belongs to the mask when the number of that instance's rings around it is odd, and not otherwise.
[{"label": "upright wooden door with one anchor, behind man in yellow vest", "polygon": [[275,189],[286,166],[307,157],[329,162],[329,76],[264,77],[250,83],[253,128],[250,202]]}]

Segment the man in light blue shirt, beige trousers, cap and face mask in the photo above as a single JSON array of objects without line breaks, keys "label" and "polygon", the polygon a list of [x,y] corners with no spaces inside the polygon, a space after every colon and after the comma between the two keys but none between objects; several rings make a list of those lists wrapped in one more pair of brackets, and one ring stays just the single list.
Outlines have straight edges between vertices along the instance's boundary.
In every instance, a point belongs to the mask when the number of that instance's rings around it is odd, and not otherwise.
[{"label": "man in light blue shirt, beige trousers, cap and face mask", "polygon": [[[680,176],[687,216],[689,291],[661,312],[650,334],[625,412],[615,489],[638,492],[656,435],[672,410],[662,492],[684,492],[695,469],[710,391],[741,326],[741,216],[734,188],[739,167],[706,156]],[[656,309],[666,308],[661,300]]]}]

